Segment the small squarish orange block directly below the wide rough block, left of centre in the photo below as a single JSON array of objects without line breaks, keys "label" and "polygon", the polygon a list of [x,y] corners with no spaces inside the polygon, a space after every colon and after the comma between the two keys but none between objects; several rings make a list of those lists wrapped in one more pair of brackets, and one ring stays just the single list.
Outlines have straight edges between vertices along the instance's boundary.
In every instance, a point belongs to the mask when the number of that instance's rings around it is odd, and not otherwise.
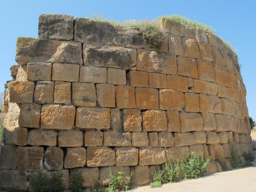
[{"label": "small squarish orange block directly below the wide rough block, left of centre", "polygon": [[84,133],[84,146],[102,146],[103,145],[103,132],[100,130],[85,131]]}]

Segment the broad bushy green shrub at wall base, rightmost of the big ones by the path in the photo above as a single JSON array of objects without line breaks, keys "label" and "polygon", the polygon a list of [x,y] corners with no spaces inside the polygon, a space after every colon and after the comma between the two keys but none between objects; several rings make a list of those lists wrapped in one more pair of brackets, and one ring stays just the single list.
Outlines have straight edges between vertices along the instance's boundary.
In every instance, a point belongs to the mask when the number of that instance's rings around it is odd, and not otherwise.
[{"label": "broad bushy green shrub at wall base, rightmost of the big ones by the path", "polygon": [[184,179],[197,179],[198,177],[204,176],[209,161],[210,159],[205,159],[203,154],[198,155],[192,152],[187,160],[183,160],[180,164]]}]

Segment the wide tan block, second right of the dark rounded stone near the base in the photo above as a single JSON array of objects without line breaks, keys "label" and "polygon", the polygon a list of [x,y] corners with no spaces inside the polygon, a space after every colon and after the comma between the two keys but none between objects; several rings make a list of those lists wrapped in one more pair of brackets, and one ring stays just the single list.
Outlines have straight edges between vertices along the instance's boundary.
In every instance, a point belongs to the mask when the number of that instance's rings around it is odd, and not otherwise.
[{"label": "wide tan block, second right of the dark rounded stone near the base", "polygon": [[86,158],[88,167],[109,166],[116,163],[116,153],[108,147],[88,147]]}]

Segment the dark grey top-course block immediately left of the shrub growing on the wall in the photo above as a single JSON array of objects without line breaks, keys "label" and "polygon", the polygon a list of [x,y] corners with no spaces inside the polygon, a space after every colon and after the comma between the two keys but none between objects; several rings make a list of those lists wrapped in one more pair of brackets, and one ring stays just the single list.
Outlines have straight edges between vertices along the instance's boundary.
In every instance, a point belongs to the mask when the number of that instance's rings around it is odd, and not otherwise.
[{"label": "dark grey top-course block immediately left of the shrub growing on the wall", "polygon": [[115,46],[143,48],[144,42],[138,29],[132,27],[113,28],[113,43]]}]

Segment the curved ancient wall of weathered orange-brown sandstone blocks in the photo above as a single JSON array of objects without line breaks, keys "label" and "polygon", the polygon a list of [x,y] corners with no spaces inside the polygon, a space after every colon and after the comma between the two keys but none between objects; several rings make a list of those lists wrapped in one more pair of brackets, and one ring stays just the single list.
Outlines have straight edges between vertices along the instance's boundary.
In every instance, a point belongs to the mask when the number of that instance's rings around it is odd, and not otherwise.
[{"label": "curved ancient wall of weathered orange-brown sandstone blocks", "polygon": [[[235,141],[252,152],[246,90],[237,56],[219,37],[162,18],[160,49],[138,30],[68,15],[41,15],[39,38],[19,37],[0,162],[0,189],[33,191],[42,172],[79,167],[84,187],[108,172],[136,185],[171,157],[211,156],[221,170]],[[7,102],[7,103],[6,103]]]}]

